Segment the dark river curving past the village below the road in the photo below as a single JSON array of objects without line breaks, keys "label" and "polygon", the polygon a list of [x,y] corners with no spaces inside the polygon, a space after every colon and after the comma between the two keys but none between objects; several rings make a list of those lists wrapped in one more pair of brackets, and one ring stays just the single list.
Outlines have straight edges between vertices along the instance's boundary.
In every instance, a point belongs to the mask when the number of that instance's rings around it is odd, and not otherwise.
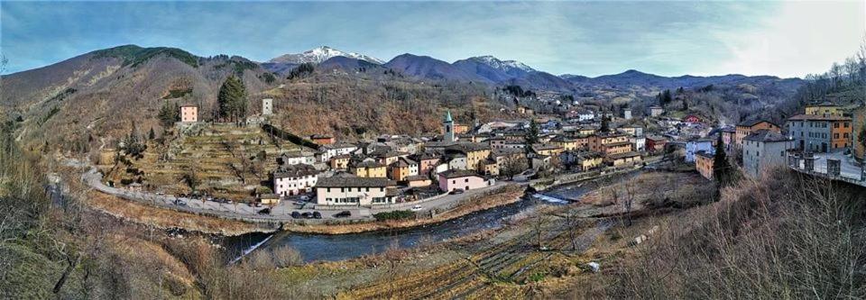
[{"label": "dark river curving past the village below the road", "polygon": [[228,254],[233,258],[256,247],[258,250],[267,250],[281,245],[289,245],[298,250],[301,257],[307,262],[353,259],[366,254],[381,253],[392,246],[411,248],[423,241],[445,241],[474,232],[498,228],[511,216],[530,210],[540,203],[565,205],[569,203],[568,200],[574,201],[580,195],[584,195],[587,191],[595,188],[598,180],[557,186],[539,194],[523,196],[520,201],[511,205],[502,205],[482,212],[466,214],[443,223],[400,230],[337,235],[295,232],[250,233],[226,237],[222,244],[226,246]]}]

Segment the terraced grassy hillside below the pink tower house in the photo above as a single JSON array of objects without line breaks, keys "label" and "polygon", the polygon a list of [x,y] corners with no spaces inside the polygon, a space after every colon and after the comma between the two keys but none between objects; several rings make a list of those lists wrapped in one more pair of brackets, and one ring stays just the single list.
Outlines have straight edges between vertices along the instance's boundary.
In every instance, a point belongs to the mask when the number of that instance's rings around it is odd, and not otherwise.
[{"label": "terraced grassy hillside below the pink tower house", "polygon": [[[298,145],[274,141],[258,127],[234,124],[197,125],[169,138],[165,145],[148,142],[141,159],[115,165],[108,178],[143,179],[166,193],[189,193],[191,186],[217,196],[251,199],[267,192],[269,174],[282,153],[302,150]],[[143,172],[143,174],[142,174]]]}]

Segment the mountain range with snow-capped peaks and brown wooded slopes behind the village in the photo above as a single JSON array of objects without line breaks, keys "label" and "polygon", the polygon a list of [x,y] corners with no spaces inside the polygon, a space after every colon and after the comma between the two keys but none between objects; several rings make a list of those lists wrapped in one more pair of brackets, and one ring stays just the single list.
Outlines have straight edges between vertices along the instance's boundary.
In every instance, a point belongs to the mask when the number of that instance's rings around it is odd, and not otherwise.
[{"label": "mountain range with snow-capped peaks and brown wooded slopes behind the village", "polygon": [[[290,78],[301,63],[315,65],[315,71]],[[196,104],[202,115],[213,115],[219,86],[230,75],[241,78],[251,99],[273,97],[274,105],[291,116],[283,125],[297,132],[339,135],[429,132],[438,128],[444,110],[496,118],[514,104],[492,92],[508,85],[618,105],[665,88],[729,86],[751,99],[772,95],[769,102],[760,102],[772,105],[802,83],[769,76],[661,77],[637,70],[600,77],[556,76],[492,56],[449,63],[406,53],[384,62],[324,46],[256,62],[126,45],[0,77],[0,109],[23,119],[23,127],[32,129],[24,135],[56,134],[43,140],[73,145],[93,140],[88,134],[95,132],[122,136],[132,123],[158,127],[155,115],[166,101]],[[51,131],[41,130],[46,126]]]}]

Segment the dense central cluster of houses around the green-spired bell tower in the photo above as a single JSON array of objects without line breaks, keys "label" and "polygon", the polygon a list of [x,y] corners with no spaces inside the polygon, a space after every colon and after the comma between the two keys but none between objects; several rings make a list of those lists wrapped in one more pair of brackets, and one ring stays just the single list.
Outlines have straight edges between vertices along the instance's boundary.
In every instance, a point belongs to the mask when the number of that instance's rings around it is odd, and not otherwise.
[{"label": "dense central cluster of houses around the green-spired bell tower", "polygon": [[632,166],[644,155],[663,150],[667,142],[645,136],[638,126],[602,132],[595,117],[540,118],[536,123],[538,142],[532,144],[526,137],[530,122],[469,128],[455,123],[450,113],[442,121],[443,133],[436,136],[382,135],[374,141],[347,143],[313,135],[309,140],[318,144],[317,150],[290,152],[278,159],[273,192],[280,197],[315,192],[317,205],[387,205],[408,199],[404,192],[411,188],[466,191],[530,169]]}]

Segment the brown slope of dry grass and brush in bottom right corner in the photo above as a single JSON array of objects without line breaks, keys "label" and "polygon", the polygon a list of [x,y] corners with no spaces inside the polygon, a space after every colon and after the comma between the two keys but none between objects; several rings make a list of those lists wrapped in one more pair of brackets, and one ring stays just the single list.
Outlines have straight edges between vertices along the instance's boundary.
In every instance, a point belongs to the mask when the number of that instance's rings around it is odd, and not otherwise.
[{"label": "brown slope of dry grass and brush in bottom right corner", "polygon": [[861,187],[780,170],[672,219],[613,272],[631,298],[862,298]]}]

